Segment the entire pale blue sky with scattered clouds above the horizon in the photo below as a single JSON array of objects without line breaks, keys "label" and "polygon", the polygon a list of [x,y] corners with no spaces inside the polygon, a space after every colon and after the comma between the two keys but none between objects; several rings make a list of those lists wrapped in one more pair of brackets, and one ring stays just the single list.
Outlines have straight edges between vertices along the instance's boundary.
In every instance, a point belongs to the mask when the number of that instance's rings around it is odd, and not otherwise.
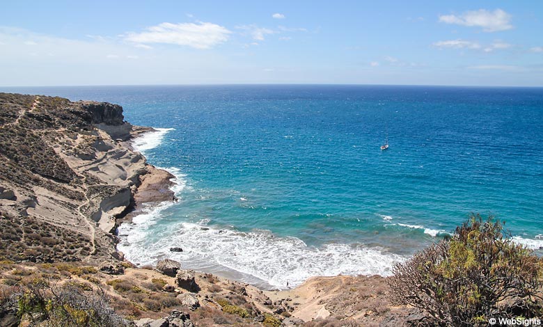
[{"label": "entire pale blue sky with scattered clouds above the horizon", "polygon": [[543,86],[543,1],[5,1],[0,86]]}]

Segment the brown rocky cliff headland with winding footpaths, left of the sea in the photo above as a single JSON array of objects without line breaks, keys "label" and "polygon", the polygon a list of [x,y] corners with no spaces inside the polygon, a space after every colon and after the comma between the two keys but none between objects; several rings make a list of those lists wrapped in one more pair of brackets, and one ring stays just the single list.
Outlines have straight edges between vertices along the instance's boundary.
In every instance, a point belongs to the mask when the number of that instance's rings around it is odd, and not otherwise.
[{"label": "brown rocky cliff headland with winding footpaths, left of the sea", "polygon": [[122,257],[111,231],[151,168],[130,131],[116,104],[0,93],[0,259]]}]

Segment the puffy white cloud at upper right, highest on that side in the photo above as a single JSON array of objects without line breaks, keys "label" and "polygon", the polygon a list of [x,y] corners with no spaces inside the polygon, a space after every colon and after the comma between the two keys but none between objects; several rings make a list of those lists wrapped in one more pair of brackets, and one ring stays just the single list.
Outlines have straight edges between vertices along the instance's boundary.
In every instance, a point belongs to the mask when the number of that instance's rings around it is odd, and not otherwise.
[{"label": "puffy white cloud at upper right, highest on that side", "polygon": [[488,11],[485,9],[466,11],[462,15],[441,15],[439,22],[462,26],[482,27],[485,32],[497,32],[512,29],[511,15],[501,9]]}]

